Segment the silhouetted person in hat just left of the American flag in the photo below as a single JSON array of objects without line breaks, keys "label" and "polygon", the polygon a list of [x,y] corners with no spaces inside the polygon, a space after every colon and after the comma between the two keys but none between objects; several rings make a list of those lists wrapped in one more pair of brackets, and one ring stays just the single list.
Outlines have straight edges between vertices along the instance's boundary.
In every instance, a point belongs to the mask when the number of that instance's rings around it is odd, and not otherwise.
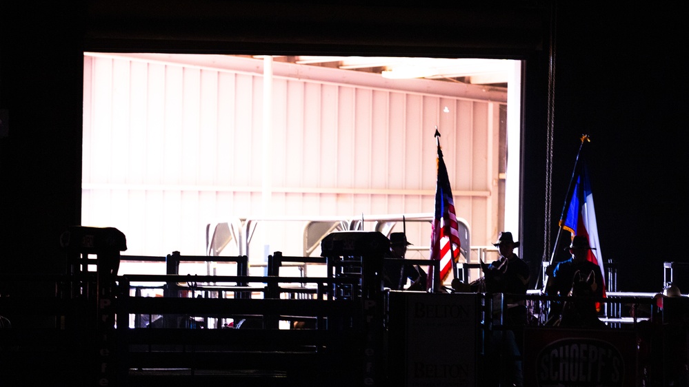
[{"label": "silhouetted person in hat just left of the American flag", "polygon": [[[404,233],[390,234],[390,253],[386,258],[403,259],[407,253],[407,246],[411,243],[407,241]],[[410,286],[404,289],[407,280],[411,281]],[[426,272],[418,265],[400,264],[390,260],[383,261],[383,286],[392,290],[426,290]]]}]

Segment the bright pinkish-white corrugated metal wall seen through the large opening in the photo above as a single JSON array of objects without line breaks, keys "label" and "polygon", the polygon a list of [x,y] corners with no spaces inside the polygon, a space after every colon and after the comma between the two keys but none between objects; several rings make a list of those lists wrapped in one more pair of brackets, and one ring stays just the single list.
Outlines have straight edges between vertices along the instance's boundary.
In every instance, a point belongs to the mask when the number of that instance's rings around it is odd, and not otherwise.
[{"label": "bright pinkish-white corrugated metal wall seen through the large opening", "polygon": [[[234,218],[432,212],[436,125],[472,244],[499,231],[506,93],[274,63],[264,138],[261,59],[170,58],[84,57],[82,224],[123,231],[126,254],[203,255],[206,224]],[[301,255],[301,227],[272,222],[254,238]],[[430,226],[408,234],[428,244]]]}]

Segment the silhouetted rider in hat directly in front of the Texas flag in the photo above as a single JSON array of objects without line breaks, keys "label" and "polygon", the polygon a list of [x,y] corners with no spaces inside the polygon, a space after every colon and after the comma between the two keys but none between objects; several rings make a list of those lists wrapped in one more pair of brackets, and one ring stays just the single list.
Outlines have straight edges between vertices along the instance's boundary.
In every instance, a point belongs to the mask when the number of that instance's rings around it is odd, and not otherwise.
[{"label": "silhouetted rider in hat directly in front of the Texas flag", "polygon": [[[548,278],[546,284],[546,295],[557,295],[559,297],[566,297],[568,295],[586,295],[588,297],[603,297],[603,273],[601,268],[588,260],[588,252],[595,250],[588,244],[586,236],[575,236],[572,238],[572,243],[568,248],[571,257],[555,265],[552,274]],[[575,294],[576,293],[576,294]],[[595,302],[586,303],[579,302],[581,310],[593,305],[595,311]],[[582,306],[583,305],[583,306]],[[557,301],[550,302],[550,317],[549,322],[557,321],[555,319],[563,318],[563,303]],[[581,313],[579,313],[581,314]],[[599,320],[595,317],[590,320],[579,320],[577,322],[568,323],[576,326],[598,326]]]}]

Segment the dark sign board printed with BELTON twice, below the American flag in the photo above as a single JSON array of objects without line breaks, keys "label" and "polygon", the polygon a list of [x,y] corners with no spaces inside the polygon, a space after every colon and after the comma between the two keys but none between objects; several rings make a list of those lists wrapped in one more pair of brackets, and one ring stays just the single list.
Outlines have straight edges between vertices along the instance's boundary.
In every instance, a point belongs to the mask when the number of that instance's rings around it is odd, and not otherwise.
[{"label": "dark sign board printed with BELTON twice, below the American flag", "polygon": [[397,386],[477,384],[479,295],[389,294],[388,377]]}]

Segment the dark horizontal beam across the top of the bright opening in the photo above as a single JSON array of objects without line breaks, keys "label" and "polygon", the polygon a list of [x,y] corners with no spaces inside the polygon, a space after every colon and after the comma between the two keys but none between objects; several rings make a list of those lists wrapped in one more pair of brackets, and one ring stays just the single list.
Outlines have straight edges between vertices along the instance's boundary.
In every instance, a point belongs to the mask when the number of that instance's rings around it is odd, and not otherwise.
[{"label": "dark horizontal beam across the top of the bright opening", "polygon": [[312,1],[90,1],[85,50],[483,56],[541,50],[549,10],[536,1],[459,6]]}]

